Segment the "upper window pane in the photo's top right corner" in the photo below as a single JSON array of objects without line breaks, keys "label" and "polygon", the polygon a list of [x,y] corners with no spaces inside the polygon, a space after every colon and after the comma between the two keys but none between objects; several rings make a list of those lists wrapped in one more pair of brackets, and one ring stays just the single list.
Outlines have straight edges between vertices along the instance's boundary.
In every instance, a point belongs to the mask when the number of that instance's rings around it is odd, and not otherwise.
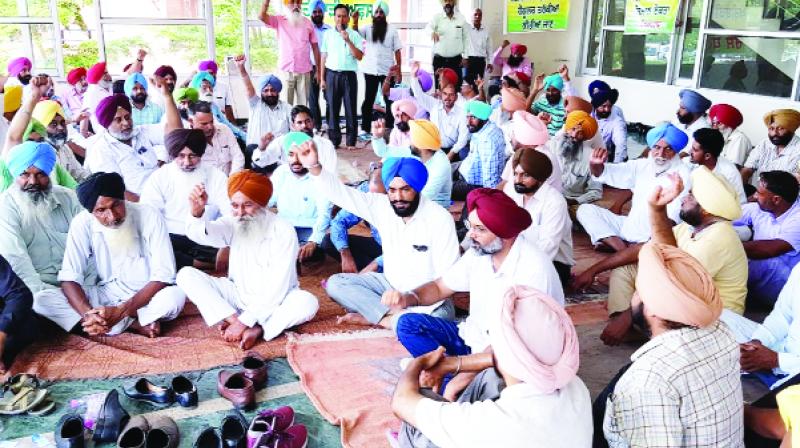
[{"label": "upper window pane in the photo's top right corner", "polygon": [[795,0],[714,0],[709,28],[747,31],[800,30]]}]

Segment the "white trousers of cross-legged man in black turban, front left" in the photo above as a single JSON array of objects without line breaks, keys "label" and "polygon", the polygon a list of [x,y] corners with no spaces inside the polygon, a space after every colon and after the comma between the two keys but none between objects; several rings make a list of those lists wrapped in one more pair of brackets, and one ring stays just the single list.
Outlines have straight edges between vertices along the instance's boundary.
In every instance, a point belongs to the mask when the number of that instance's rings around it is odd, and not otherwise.
[{"label": "white trousers of cross-legged man in black turban, front left", "polygon": [[[92,308],[117,306],[127,302],[132,294],[114,283],[101,286],[84,286],[86,298]],[[186,294],[177,286],[167,286],[157,292],[150,303],[136,312],[139,325],[150,325],[157,320],[172,320],[178,317],[186,303]],[[33,310],[44,316],[65,331],[70,331],[81,321],[81,316],[67,301],[67,296],[58,289],[46,289],[34,296]],[[134,319],[126,317],[111,327],[109,336],[120,334],[133,324]]]}]

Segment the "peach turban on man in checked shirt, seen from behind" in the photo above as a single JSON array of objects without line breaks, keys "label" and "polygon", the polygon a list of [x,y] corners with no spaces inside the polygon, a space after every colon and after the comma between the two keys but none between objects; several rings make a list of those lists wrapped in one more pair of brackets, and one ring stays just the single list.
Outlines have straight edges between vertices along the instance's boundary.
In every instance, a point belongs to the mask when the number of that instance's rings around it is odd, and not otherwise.
[{"label": "peach turban on man in checked shirt, seen from behind", "polygon": [[675,246],[647,243],[639,251],[636,291],[647,313],[692,327],[707,327],[722,313],[714,279]]}]

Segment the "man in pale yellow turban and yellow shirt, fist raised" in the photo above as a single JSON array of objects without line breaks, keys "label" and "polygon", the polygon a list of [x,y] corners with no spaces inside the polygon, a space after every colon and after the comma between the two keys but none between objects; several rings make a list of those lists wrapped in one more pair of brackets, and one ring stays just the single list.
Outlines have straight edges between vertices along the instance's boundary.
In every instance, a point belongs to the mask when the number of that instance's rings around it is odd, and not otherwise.
[{"label": "man in pale yellow turban and yellow shirt, fist raised", "polygon": [[[738,196],[722,176],[701,166],[692,172],[691,190],[681,201],[683,222],[673,226],[665,204],[678,197],[683,183],[674,174],[670,182],[667,187],[656,187],[649,199],[653,241],[677,246],[694,257],[711,276],[723,306],[742,314],[747,296],[747,256],[731,225],[741,215]],[[583,289],[599,273],[613,269],[608,295],[611,320],[601,335],[606,344],[622,342],[634,323],[631,298],[641,247],[632,245],[576,276],[575,287]]]}]

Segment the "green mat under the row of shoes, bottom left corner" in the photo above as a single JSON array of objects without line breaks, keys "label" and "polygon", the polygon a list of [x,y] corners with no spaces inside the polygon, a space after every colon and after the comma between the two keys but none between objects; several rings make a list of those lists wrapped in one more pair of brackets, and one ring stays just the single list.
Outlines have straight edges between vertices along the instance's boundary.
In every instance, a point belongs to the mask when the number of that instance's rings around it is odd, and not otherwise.
[{"label": "green mat under the row of shoes, bottom left corner", "polygon": [[[197,384],[200,397],[200,406],[196,410],[185,410],[174,404],[169,407],[155,406],[148,402],[129,400],[120,391],[120,401],[125,410],[132,416],[148,414],[151,412],[165,412],[175,418],[181,433],[181,447],[191,447],[197,435],[207,426],[219,427],[222,418],[233,408],[230,402],[222,399],[217,393],[217,374],[225,368],[223,366],[207,371],[186,372],[188,378]],[[288,405],[295,410],[295,422],[302,423],[308,428],[308,447],[337,447],[340,446],[340,432],[337,426],[329,424],[317,412],[308,397],[300,390],[298,378],[289,367],[285,358],[269,362],[269,380],[265,391],[260,392],[261,400],[256,409],[267,409]],[[147,376],[156,384],[168,384],[174,375]],[[55,425],[62,414],[69,411],[70,400],[98,393],[107,392],[115,387],[120,387],[136,378],[116,378],[109,380],[76,380],[57,381],[47,385],[51,397],[57,403],[53,413],[44,417],[0,416],[3,431],[0,432],[0,448],[27,448],[53,446],[49,437],[43,437],[55,429]],[[266,392],[266,394],[264,393]],[[244,413],[245,418],[251,420],[256,411]],[[184,417],[184,418],[181,418]],[[96,446],[115,446],[102,444]]]}]

